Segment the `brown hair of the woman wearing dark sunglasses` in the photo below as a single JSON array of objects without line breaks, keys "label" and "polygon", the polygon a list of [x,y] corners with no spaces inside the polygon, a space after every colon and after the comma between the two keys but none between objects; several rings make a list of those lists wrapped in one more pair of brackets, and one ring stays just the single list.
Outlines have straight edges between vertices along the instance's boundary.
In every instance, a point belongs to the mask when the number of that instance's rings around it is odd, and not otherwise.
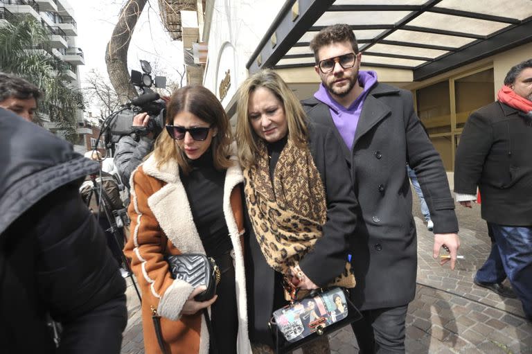
[{"label": "brown hair of the woman wearing dark sunglasses", "polygon": [[[232,141],[231,127],[218,98],[209,89],[200,85],[181,87],[170,97],[170,102],[166,107],[166,124],[173,125],[175,116],[181,112],[194,114],[205,123],[209,123],[211,127],[218,129],[218,134],[213,136],[211,141],[213,164],[217,170],[229,168],[232,165],[228,156]],[[157,167],[175,159],[185,174],[192,169],[186,154],[166,130],[157,137],[153,153],[157,159]]]}]

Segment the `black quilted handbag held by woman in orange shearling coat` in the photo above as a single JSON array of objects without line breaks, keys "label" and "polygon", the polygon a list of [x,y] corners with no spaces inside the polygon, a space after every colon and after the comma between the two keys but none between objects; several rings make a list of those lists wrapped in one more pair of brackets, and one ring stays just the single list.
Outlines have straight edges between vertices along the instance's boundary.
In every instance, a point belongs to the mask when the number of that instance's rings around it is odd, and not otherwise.
[{"label": "black quilted handbag held by woman in orange shearling coat", "polygon": [[207,301],[216,294],[220,282],[220,269],[213,258],[204,254],[177,254],[166,256],[170,274],[174,279],[186,281],[193,287],[204,285],[207,290],[197,294],[195,301]]}]

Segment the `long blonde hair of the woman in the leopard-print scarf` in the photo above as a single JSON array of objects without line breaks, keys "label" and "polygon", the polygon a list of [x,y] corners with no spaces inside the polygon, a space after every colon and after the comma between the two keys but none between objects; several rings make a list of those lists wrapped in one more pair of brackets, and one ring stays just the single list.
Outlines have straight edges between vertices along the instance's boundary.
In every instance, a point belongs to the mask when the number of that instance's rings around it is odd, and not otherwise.
[{"label": "long blonde hair of the woman in the leopard-print scarf", "polygon": [[240,164],[244,168],[255,163],[255,157],[258,153],[257,141],[260,138],[251,127],[248,105],[249,96],[260,87],[272,91],[272,94],[283,105],[288,125],[288,139],[300,148],[303,148],[307,143],[307,117],[299,99],[275,71],[271,69],[258,71],[258,73],[249,76],[238,89],[236,141]]}]

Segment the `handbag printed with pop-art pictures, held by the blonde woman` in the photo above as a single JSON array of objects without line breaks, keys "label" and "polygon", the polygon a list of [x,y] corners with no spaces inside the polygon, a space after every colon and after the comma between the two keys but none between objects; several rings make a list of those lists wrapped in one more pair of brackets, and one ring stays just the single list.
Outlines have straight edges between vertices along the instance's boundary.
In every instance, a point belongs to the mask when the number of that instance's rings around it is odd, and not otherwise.
[{"label": "handbag printed with pop-art pictures, held by the blonde woman", "polygon": [[296,348],[362,318],[342,287],[317,290],[274,311],[269,328],[277,354]]}]

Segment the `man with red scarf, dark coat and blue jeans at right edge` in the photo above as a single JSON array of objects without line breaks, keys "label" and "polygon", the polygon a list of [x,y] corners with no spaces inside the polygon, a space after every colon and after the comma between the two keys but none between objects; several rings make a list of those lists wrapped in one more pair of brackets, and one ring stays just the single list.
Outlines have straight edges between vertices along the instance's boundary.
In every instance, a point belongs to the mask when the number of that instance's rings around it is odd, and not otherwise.
[{"label": "man with red scarf, dark coat and blue jeans at right edge", "polygon": [[532,59],[510,69],[497,101],[465,123],[454,165],[456,201],[471,207],[477,186],[495,242],[475,284],[499,292],[508,276],[532,320]]}]

